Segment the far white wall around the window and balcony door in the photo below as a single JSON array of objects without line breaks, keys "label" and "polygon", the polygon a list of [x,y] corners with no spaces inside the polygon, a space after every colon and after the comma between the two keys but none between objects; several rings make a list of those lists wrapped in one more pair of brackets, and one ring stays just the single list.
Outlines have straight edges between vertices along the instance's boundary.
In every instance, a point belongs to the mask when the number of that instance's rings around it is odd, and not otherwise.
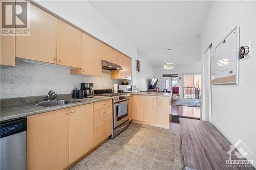
[{"label": "far white wall around the window and balcony door", "polygon": [[183,74],[201,74],[201,64],[193,65],[174,65],[174,69],[163,69],[162,67],[154,68],[154,76],[158,79],[157,86],[160,90],[163,87],[163,75],[166,74],[178,74],[178,79],[181,77],[181,80],[178,80],[178,86],[180,87],[180,98],[183,98]]}]

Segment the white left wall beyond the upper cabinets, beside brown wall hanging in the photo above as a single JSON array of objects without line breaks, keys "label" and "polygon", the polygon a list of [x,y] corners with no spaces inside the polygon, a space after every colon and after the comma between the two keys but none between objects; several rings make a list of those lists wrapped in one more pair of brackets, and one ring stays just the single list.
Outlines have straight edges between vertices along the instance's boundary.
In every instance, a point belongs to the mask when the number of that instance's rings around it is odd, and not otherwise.
[{"label": "white left wall beyond the upper cabinets, beside brown wall hanging", "polygon": [[146,91],[150,80],[154,77],[154,68],[140,56],[137,56],[137,59],[140,61],[140,72],[136,72],[137,88]]}]

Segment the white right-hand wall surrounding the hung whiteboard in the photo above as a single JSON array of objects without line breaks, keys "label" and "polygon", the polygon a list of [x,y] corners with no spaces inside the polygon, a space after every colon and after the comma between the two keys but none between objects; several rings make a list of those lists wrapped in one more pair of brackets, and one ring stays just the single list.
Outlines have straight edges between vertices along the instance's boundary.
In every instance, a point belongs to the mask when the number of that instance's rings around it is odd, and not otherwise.
[{"label": "white right-hand wall surrounding the hung whiteboard", "polygon": [[[255,1],[214,1],[201,34],[202,54],[212,43],[214,49],[236,26],[240,26],[240,45],[255,44]],[[239,62],[238,85],[212,86],[211,123],[231,142],[241,139],[251,150],[247,159],[256,162],[255,45],[253,55]]]}]

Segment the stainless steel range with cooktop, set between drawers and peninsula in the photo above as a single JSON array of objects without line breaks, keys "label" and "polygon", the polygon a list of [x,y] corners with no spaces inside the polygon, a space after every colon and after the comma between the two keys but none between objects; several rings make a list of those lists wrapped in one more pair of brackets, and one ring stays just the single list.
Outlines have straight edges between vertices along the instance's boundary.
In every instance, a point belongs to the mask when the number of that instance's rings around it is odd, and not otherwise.
[{"label": "stainless steel range with cooktop, set between drawers and peninsula", "polygon": [[111,138],[114,138],[129,127],[129,99],[131,95],[127,93],[112,93],[111,89],[94,90],[94,95],[113,98]]}]

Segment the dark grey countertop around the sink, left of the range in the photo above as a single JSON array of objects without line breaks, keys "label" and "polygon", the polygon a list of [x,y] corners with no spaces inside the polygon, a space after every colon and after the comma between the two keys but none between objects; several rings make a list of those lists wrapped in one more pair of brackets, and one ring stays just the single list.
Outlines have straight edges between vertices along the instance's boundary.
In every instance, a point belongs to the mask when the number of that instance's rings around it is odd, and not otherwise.
[{"label": "dark grey countertop around the sink, left of the range", "polygon": [[42,106],[35,106],[32,104],[20,104],[20,105],[12,105],[12,106],[2,106],[1,112],[0,112],[0,121],[3,120],[9,120],[13,118],[19,118],[19,117],[26,117],[33,114],[38,113],[44,113],[49,112],[53,110],[59,110],[64,108],[69,108],[73,106],[79,106],[94,102],[100,102],[104,100],[112,99],[110,97],[102,97],[102,96],[94,96],[93,98],[84,98],[84,99],[68,99],[68,100],[76,100],[81,101],[77,103],[72,104],[66,104],[66,105],[58,105],[58,106],[52,106],[52,107],[42,107]]}]

